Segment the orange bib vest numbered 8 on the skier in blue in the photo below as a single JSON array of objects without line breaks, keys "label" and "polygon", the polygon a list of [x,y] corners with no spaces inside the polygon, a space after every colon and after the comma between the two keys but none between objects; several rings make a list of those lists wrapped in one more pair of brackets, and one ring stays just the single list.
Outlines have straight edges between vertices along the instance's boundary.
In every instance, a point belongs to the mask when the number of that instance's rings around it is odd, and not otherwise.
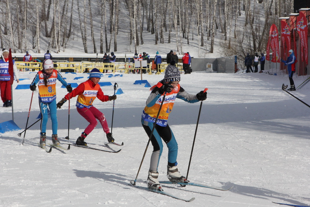
[{"label": "orange bib vest numbered 8 on the skier in blue", "polygon": [[53,70],[51,77],[47,79],[47,86],[45,86],[42,71],[39,71],[38,75],[38,89],[40,101],[44,103],[52,102],[56,98],[56,80],[58,75],[57,70]]}]

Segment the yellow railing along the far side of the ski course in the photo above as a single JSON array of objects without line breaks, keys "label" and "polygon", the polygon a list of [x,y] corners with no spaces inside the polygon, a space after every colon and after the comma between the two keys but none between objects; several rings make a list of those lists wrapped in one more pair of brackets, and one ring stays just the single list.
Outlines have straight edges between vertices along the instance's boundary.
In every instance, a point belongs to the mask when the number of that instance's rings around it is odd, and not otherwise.
[{"label": "yellow railing along the far side of the ski course", "polygon": [[[15,61],[17,69],[20,71],[39,71],[42,70],[42,62],[22,62],[22,61]],[[142,70],[146,70],[148,74],[152,74],[152,63],[148,64],[149,68],[142,68]],[[158,64],[159,71],[156,74],[164,73],[166,67],[169,64]],[[74,72],[90,72],[91,69],[97,68],[100,72],[123,72],[125,74],[131,73],[133,70],[140,70],[140,68],[135,68],[134,63],[125,63],[125,62],[114,62],[114,63],[92,63],[92,62],[54,62],[54,69],[55,70],[62,70],[62,69],[73,69]],[[182,72],[183,67],[182,63],[178,63],[178,68],[180,72]],[[87,69],[87,70],[86,70]],[[157,71],[155,69],[155,71]]]}]

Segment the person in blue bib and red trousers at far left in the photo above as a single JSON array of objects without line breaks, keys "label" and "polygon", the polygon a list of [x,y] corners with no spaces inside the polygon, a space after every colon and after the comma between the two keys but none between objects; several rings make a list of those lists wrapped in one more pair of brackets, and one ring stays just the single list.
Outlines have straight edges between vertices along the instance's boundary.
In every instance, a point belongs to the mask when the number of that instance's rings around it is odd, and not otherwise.
[{"label": "person in blue bib and red trousers at far left", "polygon": [[[11,75],[9,74],[9,51],[4,49],[1,53],[2,59],[0,60],[0,93],[1,100],[3,102],[3,107],[12,106],[12,94],[11,94]],[[19,82],[19,77],[17,73],[17,67],[15,61],[13,60],[13,72],[17,83]]]}]

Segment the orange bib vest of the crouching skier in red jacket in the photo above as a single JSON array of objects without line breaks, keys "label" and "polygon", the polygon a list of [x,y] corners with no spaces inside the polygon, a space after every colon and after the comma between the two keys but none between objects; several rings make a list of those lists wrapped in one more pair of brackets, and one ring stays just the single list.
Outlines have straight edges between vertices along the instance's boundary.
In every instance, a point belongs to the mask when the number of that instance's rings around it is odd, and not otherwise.
[{"label": "orange bib vest of the crouching skier in red jacket", "polygon": [[94,88],[91,88],[91,86],[87,82],[84,82],[83,84],[84,92],[78,95],[77,103],[75,105],[80,109],[83,107],[90,108],[91,106],[93,106],[93,101],[95,101],[97,93],[100,89],[99,84],[96,84]]}]

